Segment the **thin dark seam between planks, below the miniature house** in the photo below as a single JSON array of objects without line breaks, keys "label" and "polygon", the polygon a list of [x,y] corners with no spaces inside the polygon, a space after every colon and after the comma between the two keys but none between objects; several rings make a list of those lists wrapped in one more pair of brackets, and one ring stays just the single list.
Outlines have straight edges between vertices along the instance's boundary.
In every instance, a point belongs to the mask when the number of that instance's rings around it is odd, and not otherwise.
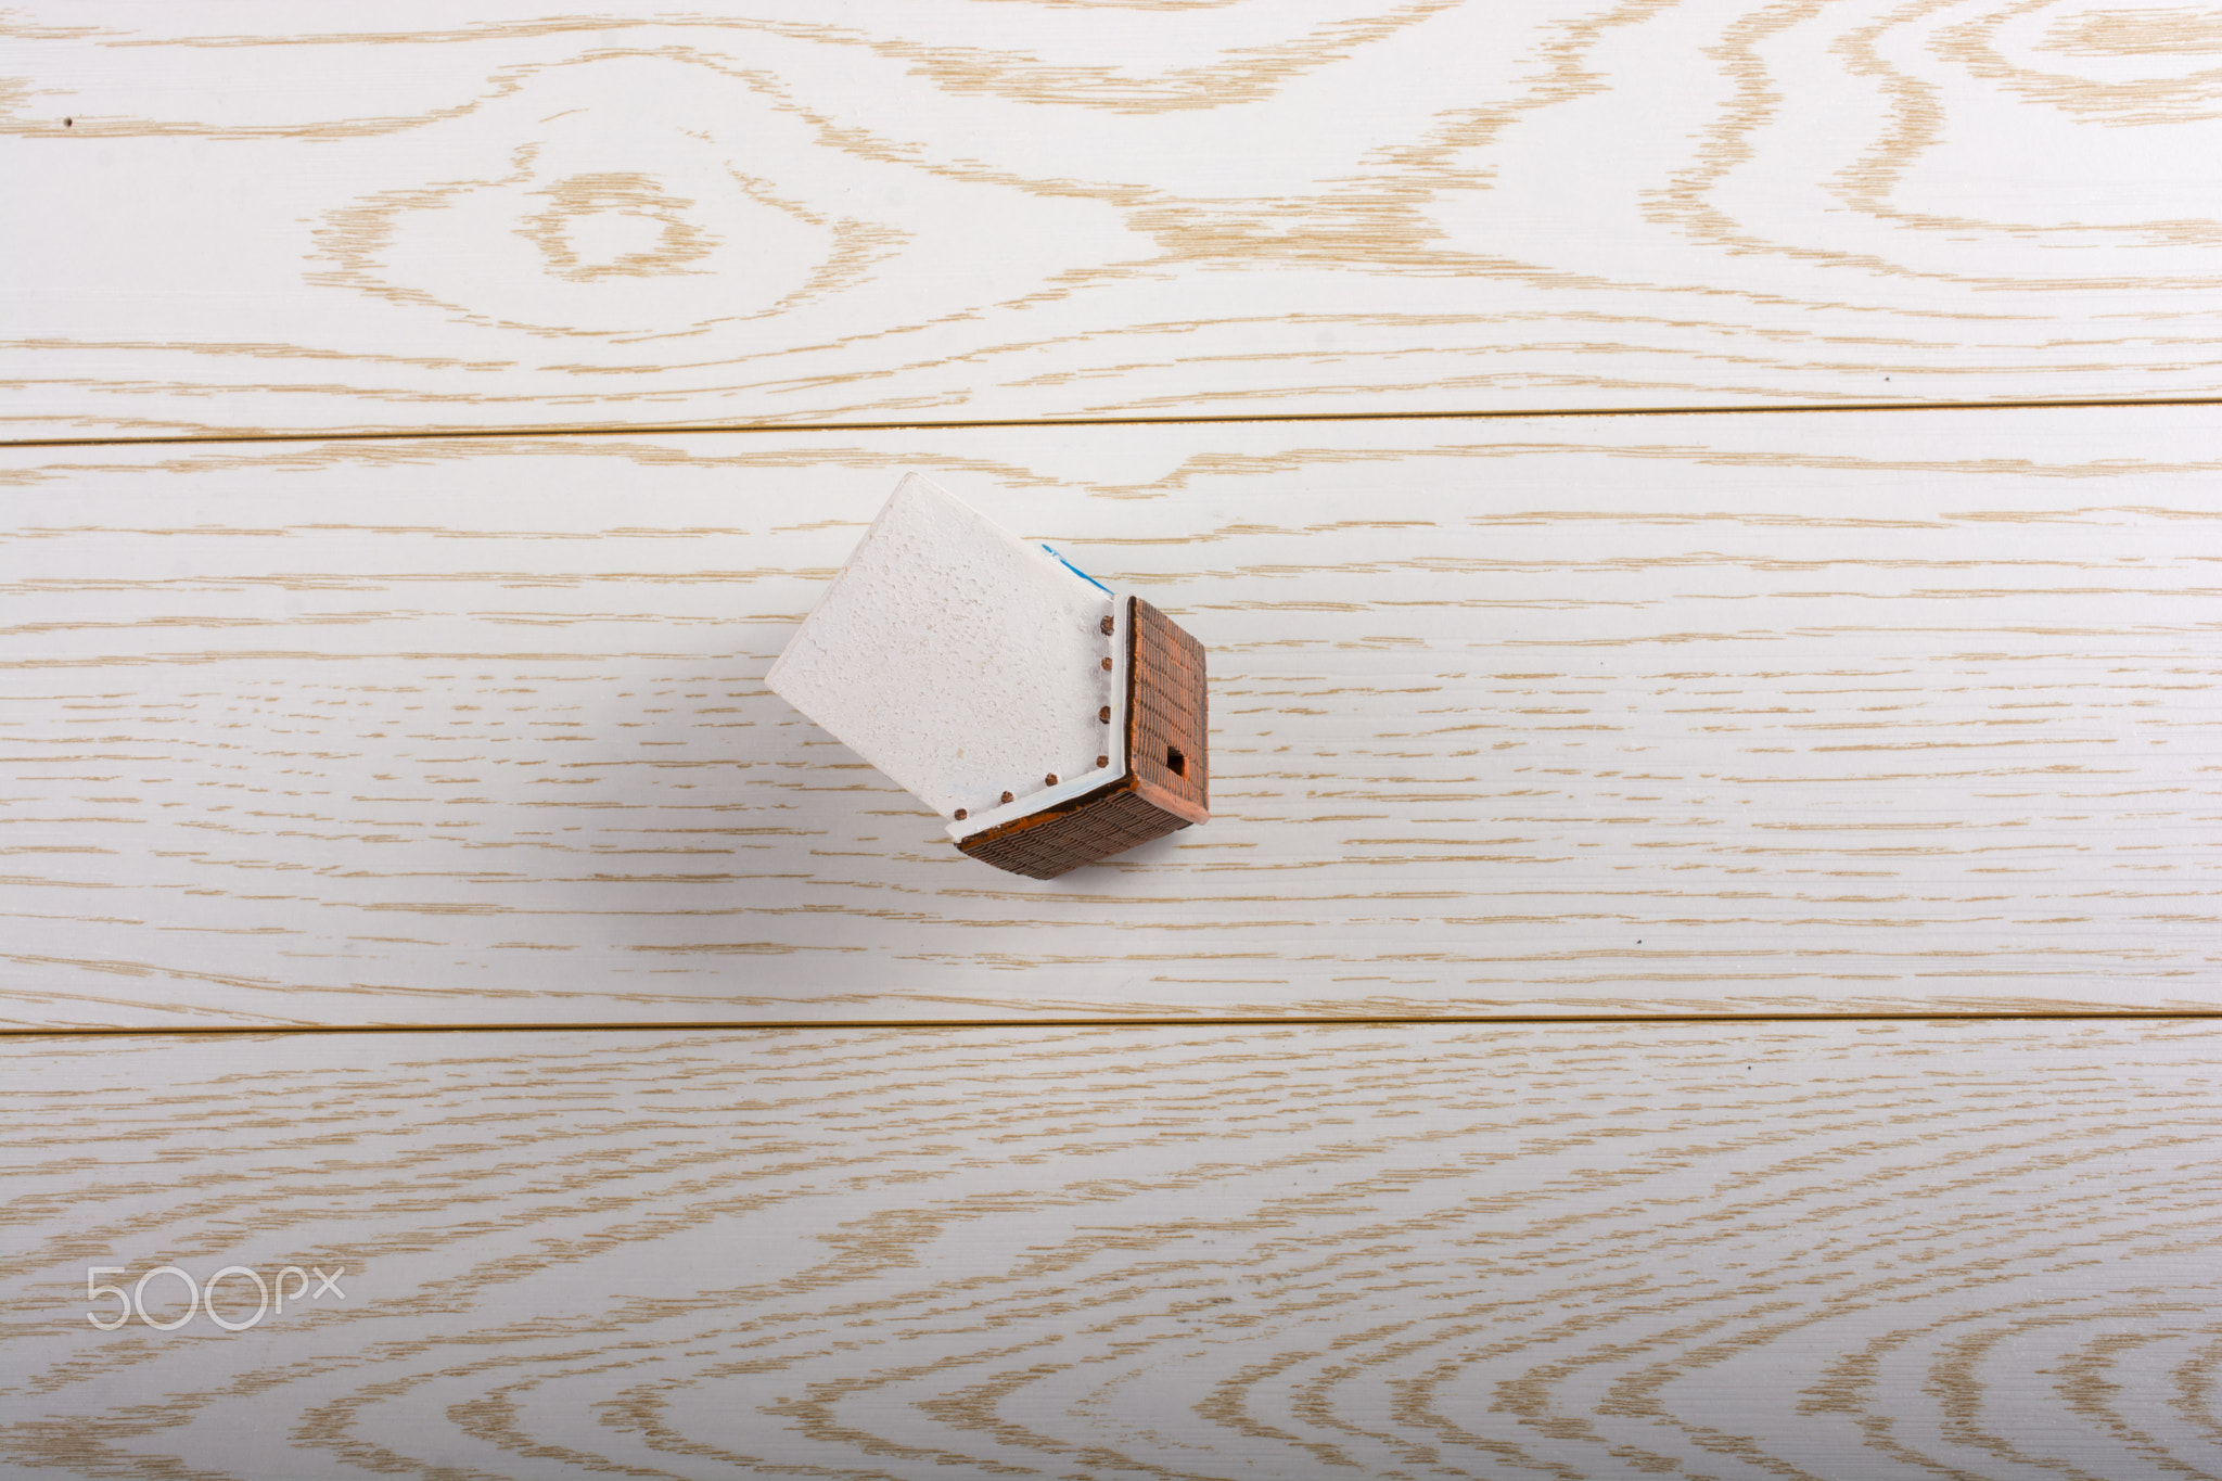
[{"label": "thin dark seam between planks, below the miniature house", "polygon": [[0,1039],[200,1039],[218,1035],[496,1035],[496,1032],[773,1032],[849,1028],[1420,1028],[1538,1024],[2026,1024],[2026,1021],[2209,1021],[2222,1008],[2120,1008],[2062,1012],[1524,1012],[1524,1015],[1309,1015],[1309,1017],[1031,1017],[1031,1019],[682,1019],[589,1024],[267,1024],[222,1028],[0,1028]]}]

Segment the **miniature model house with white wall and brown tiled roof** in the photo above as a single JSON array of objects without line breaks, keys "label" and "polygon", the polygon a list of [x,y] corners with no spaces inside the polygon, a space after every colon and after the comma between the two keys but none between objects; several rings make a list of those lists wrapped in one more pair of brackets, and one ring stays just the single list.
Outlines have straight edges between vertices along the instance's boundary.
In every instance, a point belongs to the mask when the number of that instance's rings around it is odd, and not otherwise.
[{"label": "miniature model house with white wall and brown tiled roof", "polygon": [[1202,644],[918,475],[767,684],[1015,875],[1211,817]]}]

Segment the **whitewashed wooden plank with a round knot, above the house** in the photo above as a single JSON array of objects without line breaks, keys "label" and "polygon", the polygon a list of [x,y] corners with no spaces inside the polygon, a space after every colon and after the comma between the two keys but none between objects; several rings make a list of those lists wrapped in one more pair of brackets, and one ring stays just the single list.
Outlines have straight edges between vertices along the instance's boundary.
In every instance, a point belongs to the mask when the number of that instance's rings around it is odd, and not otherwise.
[{"label": "whitewashed wooden plank with a round knot, above the house", "polygon": [[2222,395],[2124,0],[0,20],[33,435]]}]

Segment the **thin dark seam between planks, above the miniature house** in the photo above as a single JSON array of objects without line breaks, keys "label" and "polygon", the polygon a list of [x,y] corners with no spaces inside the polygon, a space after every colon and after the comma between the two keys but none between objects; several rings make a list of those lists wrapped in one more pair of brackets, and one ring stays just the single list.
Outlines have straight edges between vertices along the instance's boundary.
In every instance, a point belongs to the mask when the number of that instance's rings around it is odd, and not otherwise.
[{"label": "thin dark seam between planks, above the miniature house", "polygon": [[709,433],[887,433],[1022,426],[1242,426],[1278,422],[1502,422],[1515,417],[1749,417],[1842,411],[2060,411],[2126,406],[2222,406],[2218,395],[2071,397],[2018,402],[1826,402],[1809,406],[1542,406],[1524,411],[1269,411],[1198,417],[980,417],[947,422],[647,422],[578,426],[487,426],[411,431],[209,433],[180,437],[0,437],[0,449],[200,446],[233,442],[493,442],[522,437],[693,437]]}]

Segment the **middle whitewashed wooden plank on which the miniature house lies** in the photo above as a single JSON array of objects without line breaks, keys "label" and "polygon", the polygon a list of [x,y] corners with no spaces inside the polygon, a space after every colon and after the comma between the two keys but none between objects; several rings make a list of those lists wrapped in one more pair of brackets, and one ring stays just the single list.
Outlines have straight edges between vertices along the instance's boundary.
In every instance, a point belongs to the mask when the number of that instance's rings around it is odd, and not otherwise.
[{"label": "middle whitewashed wooden plank on which the miniature house lies", "polygon": [[[902,469],[1211,651],[1035,884],[762,688]],[[2222,1006],[2202,411],[20,451],[20,1026]]]}]

